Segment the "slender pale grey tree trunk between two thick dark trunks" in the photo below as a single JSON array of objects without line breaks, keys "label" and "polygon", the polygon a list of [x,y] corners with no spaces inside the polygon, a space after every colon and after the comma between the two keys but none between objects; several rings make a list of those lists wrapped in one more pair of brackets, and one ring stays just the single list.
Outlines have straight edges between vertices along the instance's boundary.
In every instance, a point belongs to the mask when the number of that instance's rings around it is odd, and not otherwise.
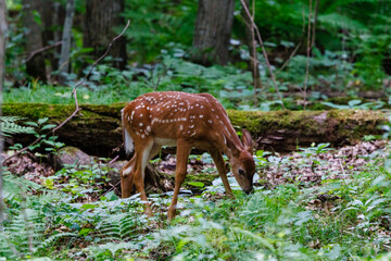
[{"label": "slender pale grey tree trunk between two thick dark trunks", "polygon": [[66,76],[70,72],[70,50],[71,50],[71,38],[72,38],[72,24],[73,16],[75,13],[75,0],[68,0],[66,3],[66,15],[62,34],[62,46],[61,55],[59,61],[59,84],[66,84]]}]

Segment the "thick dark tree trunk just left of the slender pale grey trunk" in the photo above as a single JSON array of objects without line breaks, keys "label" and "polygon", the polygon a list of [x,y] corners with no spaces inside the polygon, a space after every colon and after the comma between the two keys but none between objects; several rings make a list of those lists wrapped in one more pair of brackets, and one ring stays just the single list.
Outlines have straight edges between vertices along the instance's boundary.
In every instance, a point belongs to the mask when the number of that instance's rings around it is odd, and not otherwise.
[{"label": "thick dark tree trunk just left of the slender pale grey trunk", "polygon": [[[34,18],[34,13],[42,7],[41,0],[23,0],[23,26],[26,32],[26,52],[31,53],[43,47],[42,32],[39,24]],[[43,53],[35,54],[26,63],[26,72],[34,78],[47,80]]]}]

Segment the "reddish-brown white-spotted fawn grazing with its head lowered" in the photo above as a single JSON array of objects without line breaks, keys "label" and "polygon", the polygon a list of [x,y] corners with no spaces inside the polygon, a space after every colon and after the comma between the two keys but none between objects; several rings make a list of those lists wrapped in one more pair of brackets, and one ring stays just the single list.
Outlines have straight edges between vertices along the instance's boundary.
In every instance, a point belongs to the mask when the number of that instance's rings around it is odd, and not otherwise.
[{"label": "reddish-brown white-spotted fawn grazing with its head lowered", "polygon": [[122,198],[130,197],[135,185],[149,216],[152,214],[144,190],[144,170],[162,146],[176,147],[175,187],[167,211],[168,222],[176,215],[192,148],[211,154],[228,197],[235,198],[222,153],[228,157],[241,189],[245,194],[253,191],[255,162],[251,134],[243,128],[240,140],[224,107],[212,95],[181,91],[142,95],[122,110],[122,125],[126,153],[135,150],[134,157],[121,170]]}]

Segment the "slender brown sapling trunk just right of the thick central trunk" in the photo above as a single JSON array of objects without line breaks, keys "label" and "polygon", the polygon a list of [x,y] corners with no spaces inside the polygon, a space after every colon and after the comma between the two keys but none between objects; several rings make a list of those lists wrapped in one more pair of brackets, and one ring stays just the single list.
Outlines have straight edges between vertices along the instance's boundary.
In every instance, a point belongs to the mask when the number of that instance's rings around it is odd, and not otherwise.
[{"label": "slender brown sapling trunk just right of the thick central trunk", "polygon": [[[255,1],[255,0],[253,0]],[[249,0],[244,0],[244,4],[250,9]],[[255,32],[254,26],[251,22],[251,18],[245,13],[242,8],[241,16],[244,22],[244,30],[245,30],[245,45],[249,48],[250,53],[250,70],[253,76],[253,85],[254,85],[254,105],[257,105],[257,89],[262,88],[262,82],[260,76],[260,69],[257,63],[257,52],[256,52],[256,41],[255,41]],[[253,18],[254,20],[254,18]]]}]

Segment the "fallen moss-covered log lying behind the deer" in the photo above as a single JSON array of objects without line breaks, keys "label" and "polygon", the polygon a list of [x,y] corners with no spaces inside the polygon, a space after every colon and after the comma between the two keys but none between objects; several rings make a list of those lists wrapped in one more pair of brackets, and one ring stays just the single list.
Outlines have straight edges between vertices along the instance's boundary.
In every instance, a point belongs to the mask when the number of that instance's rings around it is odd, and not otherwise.
[{"label": "fallen moss-covered log lying behind the deer", "polygon": [[[124,103],[111,105],[81,104],[81,111],[55,134],[68,146],[75,146],[96,156],[113,156],[122,145],[121,110]],[[74,105],[40,103],[5,103],[3,115],[37,121],[49,117],[60,124],[74,111]],[[236,111],[228,110],[232,125],[248,128],[257,149],[291,151],[312,142],[332,146],[354,144],[364,135],[380,134],[379,126],[387,121],[380,111]],[[33,136],[20,135],[14,142],[27,144]]]}]

